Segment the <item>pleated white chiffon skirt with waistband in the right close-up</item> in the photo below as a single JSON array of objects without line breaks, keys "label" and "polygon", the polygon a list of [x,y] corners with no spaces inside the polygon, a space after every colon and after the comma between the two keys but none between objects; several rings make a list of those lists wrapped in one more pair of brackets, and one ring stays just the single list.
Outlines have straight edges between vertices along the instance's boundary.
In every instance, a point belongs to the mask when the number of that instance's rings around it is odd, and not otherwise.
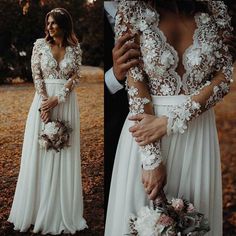
[{"label": "pleated white chiffon skirt with waistband in the right close-up", "polygon": [[[153,96],[155,114],[165,115],[170,105],[183,103],[186,96]],[[150,202],[141,182],[138,145],[126,119],[117,147],[112,175],[105,236],[129,233],[128,218]],[[185,198],[210,222],[209,236],[222,236],[222,186],[220,152],[213,109],[193,119],[184,134],[161,139],[167,167],[165,193],[168,199]]]}]

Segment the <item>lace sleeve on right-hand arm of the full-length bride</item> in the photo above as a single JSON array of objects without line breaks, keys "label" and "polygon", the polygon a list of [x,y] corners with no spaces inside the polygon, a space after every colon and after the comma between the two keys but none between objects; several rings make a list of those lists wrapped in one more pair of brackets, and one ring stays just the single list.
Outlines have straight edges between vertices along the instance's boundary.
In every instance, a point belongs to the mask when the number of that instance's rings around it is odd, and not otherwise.
[{"label": "lace sleeve on right-hand arm of the full-length bride", "polygon": [[58,103],[63,103],[66,101],[66,98],[69,96],[70,92],[74,89],[77,80],[80,78],[80,67],[82,61],[82,51],[80,45],[77,44],[76,47],[73,48],[73,67],[74,74],[68,79],[63,88],[57,93]]}]

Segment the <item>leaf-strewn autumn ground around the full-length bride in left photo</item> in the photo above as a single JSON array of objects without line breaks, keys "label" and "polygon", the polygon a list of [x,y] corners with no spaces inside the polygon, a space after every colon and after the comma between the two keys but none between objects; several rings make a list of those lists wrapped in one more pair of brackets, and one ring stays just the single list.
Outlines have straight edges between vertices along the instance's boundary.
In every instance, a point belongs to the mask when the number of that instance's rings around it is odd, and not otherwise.
[{"label": "leaf-strewn autumn ground around the full-length bride in left photo", "polygon": [[[81,114],[81,158],[84,217],[89,229],[81,236],[103,235],[103,71],[86,68],[77,88]],[[34,95],[32,84],[0,87],[0,235],[19,234],[7,223],[19,173],[27,113]]]}]

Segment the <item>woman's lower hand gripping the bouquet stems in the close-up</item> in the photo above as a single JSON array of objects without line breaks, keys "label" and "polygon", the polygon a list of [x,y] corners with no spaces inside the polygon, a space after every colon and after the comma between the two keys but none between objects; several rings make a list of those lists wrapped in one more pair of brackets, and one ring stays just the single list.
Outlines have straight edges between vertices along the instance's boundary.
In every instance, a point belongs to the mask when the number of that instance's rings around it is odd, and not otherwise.
[{"label": "woman's lower hand gripping the bouquet stems in the close-up", "polygon": [[150,200],[155,200],[166,184],[166,167],[160,164],[154,170],[142,170],[144,190]]}]

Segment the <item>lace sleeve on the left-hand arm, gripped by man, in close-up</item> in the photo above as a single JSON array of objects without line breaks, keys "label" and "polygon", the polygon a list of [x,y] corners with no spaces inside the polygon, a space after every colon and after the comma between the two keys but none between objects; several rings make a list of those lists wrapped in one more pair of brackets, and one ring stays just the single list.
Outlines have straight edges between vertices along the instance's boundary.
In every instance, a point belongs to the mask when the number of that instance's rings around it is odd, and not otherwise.
[{"label": "lace sleeve on the left-hand arm, gripped by man, in close-up", "polygon": [[[139,4],[137,1],[123,1],[119,5],[116,16],[116,39],[126,32],[136,33],[135,40],[139,41],[138,30],[135,29],[133,22],[137,22],[139,12]],[[141,19],[139,19],[141,20]],[[142,60],[142,58],[140,58]],[[127,89],[129,97],[129,108],[131,114],[154,114],[149,94],[146,74],[142,65],[133,67],[127,75]],[[160,152],[160,141],[140,147],[142,166],[145,170],[151,170],[159,166],[162,161]]]}]

